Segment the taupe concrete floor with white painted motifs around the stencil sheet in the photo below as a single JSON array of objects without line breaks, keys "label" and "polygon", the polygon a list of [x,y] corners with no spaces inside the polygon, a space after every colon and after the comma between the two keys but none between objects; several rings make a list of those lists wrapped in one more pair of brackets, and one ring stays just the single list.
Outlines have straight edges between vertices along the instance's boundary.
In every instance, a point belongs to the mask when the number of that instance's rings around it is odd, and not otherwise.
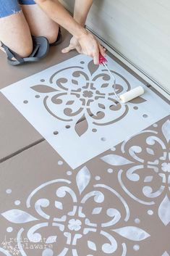
[{"label": "taupe concrete floor with white painted motifs around the stencil sheet", "polygon": [[[69,38],[38,64],[1,53],[0,88],[75,56]],[[170,255],[170,115],[75,170],[2,94],[0,124],[0,255]]]}]

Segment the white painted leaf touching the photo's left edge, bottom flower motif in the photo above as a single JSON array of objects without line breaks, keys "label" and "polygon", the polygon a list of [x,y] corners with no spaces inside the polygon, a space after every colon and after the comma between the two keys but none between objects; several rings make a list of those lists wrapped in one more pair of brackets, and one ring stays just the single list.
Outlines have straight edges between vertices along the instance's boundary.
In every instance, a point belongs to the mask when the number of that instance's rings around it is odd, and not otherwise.
[{"label": "white painted leaf touching the photo's left edge, bottom flower motif", "polygon": [[1,215],[12,223],[27,223],[38,220],[29,213],[17,209],[8,210],[7,212],[1,213]]}]

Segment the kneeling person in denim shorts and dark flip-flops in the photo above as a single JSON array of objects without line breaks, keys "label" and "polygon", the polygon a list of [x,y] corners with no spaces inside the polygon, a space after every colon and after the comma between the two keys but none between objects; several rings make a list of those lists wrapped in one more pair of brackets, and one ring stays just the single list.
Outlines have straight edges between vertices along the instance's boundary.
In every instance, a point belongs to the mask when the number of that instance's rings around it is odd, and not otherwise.
[{"label": "kneeling person in denim shorts and dark flip-flops", "polygon": [[9,63],[21,65],[45,57],[48,45],[61,42],[60,27],[72,34],[67,53],[76,49],[80,54],[93,57],[98,65],[99,53],[105,49],[92,33],[85,29],[93,0],[75,0],[74,17],[57,0],[0,0],[1,49]]}]

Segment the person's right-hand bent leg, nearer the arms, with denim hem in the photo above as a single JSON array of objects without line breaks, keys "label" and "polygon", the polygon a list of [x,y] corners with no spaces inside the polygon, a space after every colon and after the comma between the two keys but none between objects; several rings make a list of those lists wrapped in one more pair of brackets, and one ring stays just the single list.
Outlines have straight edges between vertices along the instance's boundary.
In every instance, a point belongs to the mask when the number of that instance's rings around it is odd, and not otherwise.
[{"label": "person's right-hand bent leg, nearer the arms, with denim hem", "polygon": [[45,36],[49,43],[54,43],[59,33],[59,25],[51,20],[42,10],[35,4],[33,0],[20,0],[22,4],[22,12],[25,15],[30,32],[33,36]]}]

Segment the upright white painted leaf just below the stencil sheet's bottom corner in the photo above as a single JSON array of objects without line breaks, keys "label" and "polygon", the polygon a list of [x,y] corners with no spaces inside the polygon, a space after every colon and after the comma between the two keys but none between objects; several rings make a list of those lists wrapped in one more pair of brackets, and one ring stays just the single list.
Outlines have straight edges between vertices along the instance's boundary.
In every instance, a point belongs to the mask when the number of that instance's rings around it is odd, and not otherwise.
[{"label": "upright white painted leaf just below the stencil sheet's bottom corner", "polygon": [[84,166],[77,173],[76,182],[77,182],[77,187],[80,191],[80,194],[82,194],[82,191],[85,190],[86,186],[88,186],[88,183],[90,182],[90,171],[86,166]]}]

